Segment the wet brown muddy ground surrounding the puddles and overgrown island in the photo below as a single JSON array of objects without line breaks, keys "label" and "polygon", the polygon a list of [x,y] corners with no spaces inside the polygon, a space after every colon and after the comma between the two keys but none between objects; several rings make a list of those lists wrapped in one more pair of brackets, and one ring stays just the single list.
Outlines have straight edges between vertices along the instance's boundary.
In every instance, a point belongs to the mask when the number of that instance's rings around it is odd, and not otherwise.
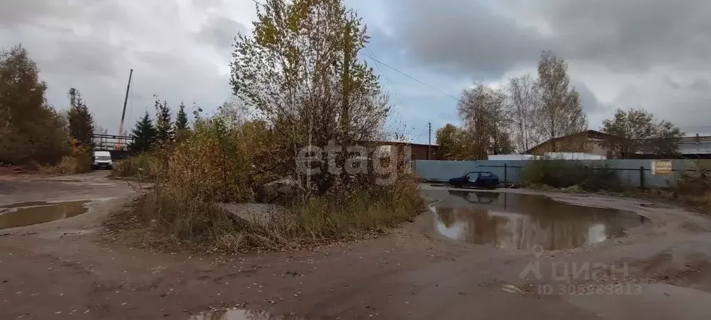
[{"label": "wet brown muddy ground surrounding the puddles and overgrown island", "polygon": [[[313,252],[157,253],[112,241],[102,227],[135,191],[107,174],[0,176],[0,206],[90,201],[73,218],[0,230],[0,319],[245,319],[201,315],[233,306],[304,316],[295,319],[711,319],[711,220],[667,203],[542,193],[648,223],[535,254],[447,240],[430,212],[384,238]],[[451,201],[440,188],[422,193]],[[628,268],[615,279],[560,276],[585,262]],[[530,264],[541,277],[522,276]]]}]

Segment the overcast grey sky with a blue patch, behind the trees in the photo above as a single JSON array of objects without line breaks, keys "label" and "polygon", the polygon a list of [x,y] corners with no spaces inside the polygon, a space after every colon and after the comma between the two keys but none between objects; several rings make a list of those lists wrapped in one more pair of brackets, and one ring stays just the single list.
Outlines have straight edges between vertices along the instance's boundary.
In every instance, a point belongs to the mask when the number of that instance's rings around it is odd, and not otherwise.
[{"label": "overcast grey sky with a blue patch, behind the trees", "polygon": [[[127,127],[155,93],[176,107],[213,110],[230,98],[232,38],[250,32],[251,0],[3,0],[0,47],[26,46],[48,100],[82,92],[115,134],[129,69]],[[535,73],[541,50],[570,65],[589,127],[618,107],[641,107],[688,133],[711,132],[711,1],[346,0],[368,24],[364,53],[432,87],[361,58],[395,106],[391,129],[427,142],[459,123],[456,100],[474,81]],[[188,110],[188,114],[191,110]],[[434,139],[434,134],[432,139]]]}]

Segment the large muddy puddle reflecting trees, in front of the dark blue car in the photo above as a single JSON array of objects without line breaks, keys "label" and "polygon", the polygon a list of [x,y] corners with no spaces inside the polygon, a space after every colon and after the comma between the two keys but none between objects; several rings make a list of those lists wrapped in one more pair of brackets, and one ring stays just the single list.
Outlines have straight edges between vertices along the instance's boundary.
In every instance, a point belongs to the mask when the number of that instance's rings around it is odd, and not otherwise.
[{"label": "large muddy puddle reflecting trees, in front of the dark blue car", "polygon": [[437,232],[454,240],[503,249],[582,247],[625,235],[646,218],[631,211],[573,206],[545,196],[442,191],[432,206]]}]

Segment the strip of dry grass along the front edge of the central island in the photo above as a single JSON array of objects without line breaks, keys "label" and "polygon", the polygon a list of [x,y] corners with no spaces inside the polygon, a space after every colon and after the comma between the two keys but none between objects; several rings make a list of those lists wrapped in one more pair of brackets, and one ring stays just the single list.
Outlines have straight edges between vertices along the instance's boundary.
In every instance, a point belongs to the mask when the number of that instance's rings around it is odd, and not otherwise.
[{"label": "strip of dry grass along the front edge of the central island", "polygon": [[[208,201],[197,201],[191,188],[156,187],[139,206],[140,220],[166,235],[186,240],[200,250],[248,252],[303,249],[341,240],[382,234],[412,221],[424,211],[414,181],[410,186],[349,198],[314,197],[287,208],[268,224],[247,221]],[[155,242],[155,241],[154,241]]]}]

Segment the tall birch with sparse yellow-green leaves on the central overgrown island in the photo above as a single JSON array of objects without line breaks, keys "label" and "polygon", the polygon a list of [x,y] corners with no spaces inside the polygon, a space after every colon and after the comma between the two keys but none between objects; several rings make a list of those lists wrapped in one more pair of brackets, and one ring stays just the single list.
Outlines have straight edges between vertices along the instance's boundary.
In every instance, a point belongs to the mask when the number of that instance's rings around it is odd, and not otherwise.
[{"label": "tall birch with sparse yellow-green leaves on the central overgrown island", "polygon": [[[237,37],[232,90],[274,129],[283,144],[277,147],[296,156],[306,145],[333,139],[349,146],[379,136],[390,107],[378,77],[358,58],[366,28],[342,0],[265,1],[252,34]],[[292,172],[294,156],[279,160]],[[343,167],[344,159],[338,162]]]}]

